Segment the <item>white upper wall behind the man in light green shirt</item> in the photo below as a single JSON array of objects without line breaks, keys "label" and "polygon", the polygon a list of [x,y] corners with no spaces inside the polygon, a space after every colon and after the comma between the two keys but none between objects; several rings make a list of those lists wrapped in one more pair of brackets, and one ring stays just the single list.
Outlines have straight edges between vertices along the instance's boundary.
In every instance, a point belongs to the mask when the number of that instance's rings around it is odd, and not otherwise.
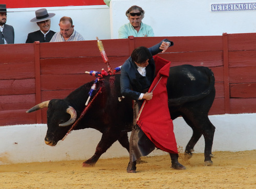
[{"label": "white upper wall behind the man in light green shirt", "polygon": [[222,33],[256,32],[256,10],[211,12],[211,4],[255,3],[247,0],[112,0],[111,37],[129,20],[125,12],[133,5],[145,11],[143,22],[152,26],[155,36],[207,36]]}]

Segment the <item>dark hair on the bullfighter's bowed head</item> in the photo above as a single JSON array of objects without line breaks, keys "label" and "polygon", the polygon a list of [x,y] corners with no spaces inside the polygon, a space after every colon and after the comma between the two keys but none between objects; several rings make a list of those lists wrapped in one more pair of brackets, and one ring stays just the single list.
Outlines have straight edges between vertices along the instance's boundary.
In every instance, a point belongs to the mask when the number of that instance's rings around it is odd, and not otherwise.
[{"label": "dark hair on the bullfighter's bowed head", "polygon": [[147,59],[152,59],[152,54],[145,48],[145,46],[139,46],[133,50],[131,54],[132,60],[138,64],[144,63]]}]

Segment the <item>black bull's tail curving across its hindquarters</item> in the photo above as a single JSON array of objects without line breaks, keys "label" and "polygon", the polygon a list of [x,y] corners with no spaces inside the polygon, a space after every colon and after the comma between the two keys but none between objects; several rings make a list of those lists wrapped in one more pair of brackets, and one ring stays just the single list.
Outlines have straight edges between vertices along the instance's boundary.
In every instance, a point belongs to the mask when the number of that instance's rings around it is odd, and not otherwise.
[{"label": "black bull's tail curving across its hindquarters", "polygon": [[208,68],[208,67],[202,67],[204,69],[204,72],[209,76],[209,85],[207,89],[199,93],[198,95],[193,95],[193,96],[187,96],[187,97],[180,97],[176,99],[168,99],[168,104],[169,106],[181,106],[182,104],[185,104],[186,102],[193,102],[200,100],[209,93],[215,89],[215,77],[214,73]]}]

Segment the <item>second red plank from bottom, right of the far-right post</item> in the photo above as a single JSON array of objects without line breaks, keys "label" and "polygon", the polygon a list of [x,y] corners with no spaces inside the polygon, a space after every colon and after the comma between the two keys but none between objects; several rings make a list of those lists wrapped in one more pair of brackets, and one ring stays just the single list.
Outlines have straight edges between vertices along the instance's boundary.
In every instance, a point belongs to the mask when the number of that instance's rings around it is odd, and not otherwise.
[{"label": "second red plank from bottom, right of the far-right post", "polygon": [[256,98],[256,83],[230,84],[230,98]]}]

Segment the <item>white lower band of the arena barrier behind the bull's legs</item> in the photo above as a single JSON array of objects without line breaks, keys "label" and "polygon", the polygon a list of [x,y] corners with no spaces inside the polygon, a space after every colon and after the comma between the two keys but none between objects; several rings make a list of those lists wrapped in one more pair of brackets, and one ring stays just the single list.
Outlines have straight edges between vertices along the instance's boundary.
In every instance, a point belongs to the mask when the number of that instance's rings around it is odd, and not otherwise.
[{"label": "white lower band of the arena barrier behind the bull's legs", "polygon": [[[210,115],[209,119],[216,127],[213,152],[256,150],[256,113]],[[45,124],[0,127],[0,164],[86,160],[94,154],[101,138],[101,133],[97,130],[77,130],[72,131],[65,140],[59,141],[55,147],[51,147],[44,141],[46,131]],[[179,117],[174,120],[174,132],[179,149],[184,151],[192,135],[191,128]],[[195,153],[203,152],[204,139],[201,137],[195,146]],[[155,150],[150,155],[162,154],[165,152]],[[129,161],[129,153],[116,142],[101,158],[122,156],[126,156]]]}]

